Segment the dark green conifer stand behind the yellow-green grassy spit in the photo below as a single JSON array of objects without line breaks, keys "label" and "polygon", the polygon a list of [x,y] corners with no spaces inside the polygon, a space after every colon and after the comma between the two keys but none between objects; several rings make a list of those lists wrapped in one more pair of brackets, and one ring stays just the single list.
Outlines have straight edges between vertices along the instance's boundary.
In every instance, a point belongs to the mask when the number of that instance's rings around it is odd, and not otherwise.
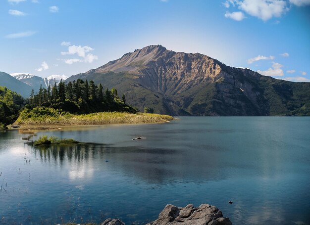
[{"label": "dark green conifer stand behind the yellow-green grassy spit", "polygon": [[47,89],[41,86],[36,94],[32,90],[27,104],[28,108],[52,107],[74,114],[137,111],[126,104],[125,95],[121,98],[118,96],[115,88],[104,90],[102,84],[97,86],[92,80],[88,82],[81,79],[68,83],[61,80],[58,85],[55,83]]}]

